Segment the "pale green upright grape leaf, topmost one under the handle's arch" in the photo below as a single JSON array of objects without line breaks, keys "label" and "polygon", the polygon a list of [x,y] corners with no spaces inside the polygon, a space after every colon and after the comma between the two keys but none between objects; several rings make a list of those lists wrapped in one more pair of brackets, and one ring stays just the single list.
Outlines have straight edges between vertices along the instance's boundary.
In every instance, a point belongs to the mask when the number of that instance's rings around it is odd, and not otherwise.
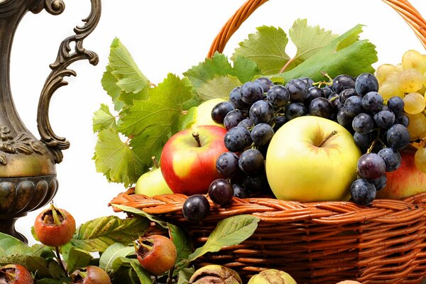
[{"label": "pale green upright grape leaf, topmost one under the handle's arch", "polygon": [[292,59],[295,65],[307,60],[337,38],[337,35],[332,34],[331,31],[325,31],[320,26],[307,26],[306,19],[296,20],[288,35],[297,48],[296,55]]}]

